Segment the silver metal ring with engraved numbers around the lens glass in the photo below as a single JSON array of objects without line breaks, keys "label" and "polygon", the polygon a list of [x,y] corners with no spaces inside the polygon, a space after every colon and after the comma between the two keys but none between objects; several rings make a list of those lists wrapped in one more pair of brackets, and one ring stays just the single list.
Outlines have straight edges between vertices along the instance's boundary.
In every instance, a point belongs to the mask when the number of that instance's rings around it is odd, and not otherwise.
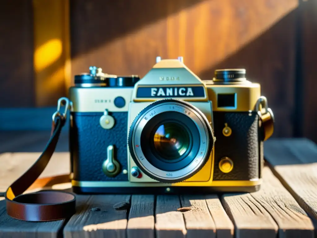
[{"label": "silver metal ring with engraved numbers around the lens glass", "polygon": [[[145,125],[149,122],[149,120],[145,119],[146,117],[149,119],[151,116],[158,115],[160,113],[166,111],[177,111],[183,113],[184,115],[191,118],[191,120],[196,124],[199,135],[200,135],[200,151],[197,157],[185,168],[180,169],[178,171],[164,171],[154,167],[144,156],[141,148],[141,133]],[[133,153],[135,157],[138,159],[140,165],[143,169],[145,169],[148,173],[152,174],[155,177],[165,179],[165,180],[175,180],[186,177],[187,175],[193,174],[200,165],[204,162],[208,155],[209,148],[209,133],[207,125],[205,124],[203,118],[193,109],[189,108],[187,105],[178,103],[178,102],[163,102],[161,104],[156,105],[155,107],[147,110],[136,122],[135,127],[133,129],[132,141],[133,141]],[[136,147],[138,145],[138,147]],[[191,152],[193,153],[193,152]],[[189,154],[191,156],[191,154]]]}]

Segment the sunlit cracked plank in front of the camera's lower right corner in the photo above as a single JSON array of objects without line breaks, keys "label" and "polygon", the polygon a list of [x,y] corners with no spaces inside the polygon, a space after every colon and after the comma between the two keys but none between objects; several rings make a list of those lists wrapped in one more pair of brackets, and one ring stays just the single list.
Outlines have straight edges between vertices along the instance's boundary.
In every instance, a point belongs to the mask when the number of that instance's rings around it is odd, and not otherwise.
[{"label": "sunlit cracked plank in front of the camera's lower right corner", "polygon": [[224,209],[235,225],[236,238],[275,238],[278,226],[271,215],[249,193],[225,194]]}]

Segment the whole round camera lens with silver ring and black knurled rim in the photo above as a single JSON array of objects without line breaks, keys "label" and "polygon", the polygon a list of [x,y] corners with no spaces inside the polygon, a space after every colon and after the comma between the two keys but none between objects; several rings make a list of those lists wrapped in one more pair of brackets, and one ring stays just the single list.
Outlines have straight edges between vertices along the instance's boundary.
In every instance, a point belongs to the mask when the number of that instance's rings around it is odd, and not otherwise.
[{"label": "whole round camera lens with silver ring and black knurled rim", "polygon": [[159,182],[180,182],[210,157],[214,136],[208,119],[188,102],[153,102],[134,119],[128,146],[136,165]]}]

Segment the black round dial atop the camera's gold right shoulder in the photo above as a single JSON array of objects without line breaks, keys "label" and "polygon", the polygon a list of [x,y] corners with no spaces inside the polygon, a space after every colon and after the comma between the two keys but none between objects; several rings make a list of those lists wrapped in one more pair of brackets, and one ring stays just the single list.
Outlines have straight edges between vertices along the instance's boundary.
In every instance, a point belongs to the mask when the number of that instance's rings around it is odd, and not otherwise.
[{"label": "black round dial atop the camera's gold right shoulder", "polygon": [[215,70],[215,83],[239,83],[244,82],[245,69],[217,69]]}]

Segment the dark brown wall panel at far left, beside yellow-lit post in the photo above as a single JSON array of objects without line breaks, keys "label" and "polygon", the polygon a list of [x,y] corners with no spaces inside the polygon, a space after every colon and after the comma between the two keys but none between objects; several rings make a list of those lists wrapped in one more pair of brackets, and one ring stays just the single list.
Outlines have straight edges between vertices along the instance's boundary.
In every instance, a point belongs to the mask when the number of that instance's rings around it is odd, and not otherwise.
[{"label": "dark brown wall panel at far left, beside yellow-lit post", "polygon": [[33,107],[32,0],[1,4],[0,107]]}]

